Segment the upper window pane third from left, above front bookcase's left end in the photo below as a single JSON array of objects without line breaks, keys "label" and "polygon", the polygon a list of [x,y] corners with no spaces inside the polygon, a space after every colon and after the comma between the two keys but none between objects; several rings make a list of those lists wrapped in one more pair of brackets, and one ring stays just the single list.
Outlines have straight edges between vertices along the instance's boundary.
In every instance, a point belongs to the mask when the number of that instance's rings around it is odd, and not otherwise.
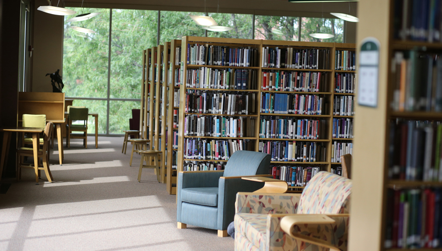
[{"label": "upper window pane third from left, above front bookcase's left end", "polygon": [[[189,15],[204,16],[198,12],[161,12],[160,44],[184,36],[204,37],[204,30]],[[155,36],[156,37],[156,36]]]}]

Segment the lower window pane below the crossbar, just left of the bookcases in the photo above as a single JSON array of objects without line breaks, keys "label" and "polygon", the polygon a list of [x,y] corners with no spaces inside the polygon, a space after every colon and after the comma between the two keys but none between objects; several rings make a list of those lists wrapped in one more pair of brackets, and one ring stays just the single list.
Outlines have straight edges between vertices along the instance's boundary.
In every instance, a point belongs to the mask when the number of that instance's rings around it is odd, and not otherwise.
[{"label": "lower window pane below the crossbar, just left of the bookcases", "polygon": [[129,130],[132,109],[140,109],[140,101],[111,100],[109,105],[109,134],[124,134]]}]

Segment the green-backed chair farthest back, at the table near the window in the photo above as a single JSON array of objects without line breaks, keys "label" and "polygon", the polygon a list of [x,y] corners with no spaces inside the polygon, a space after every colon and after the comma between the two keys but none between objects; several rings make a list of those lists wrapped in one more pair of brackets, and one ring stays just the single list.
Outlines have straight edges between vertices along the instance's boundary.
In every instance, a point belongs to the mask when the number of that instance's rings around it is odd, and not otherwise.
[{"label": "green-backed chair farthest back, at the table near the window", "polygon": [[[88,108],[69,108],[69,121],[66,124],[67,140],[66,145],[70,148],[70,139],[83,139],[83,146],[87,149],[87,117]],[[81,121],[81,124],[73,124],[72,121]],[[72,132],[81,132],[81,134],[72,134]]]}]

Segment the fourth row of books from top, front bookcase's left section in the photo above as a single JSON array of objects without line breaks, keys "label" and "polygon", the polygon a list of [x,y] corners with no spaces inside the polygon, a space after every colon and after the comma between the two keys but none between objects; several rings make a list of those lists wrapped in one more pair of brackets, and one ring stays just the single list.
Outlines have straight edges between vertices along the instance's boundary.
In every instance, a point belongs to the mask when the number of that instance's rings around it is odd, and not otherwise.
[{"label": "fourth row of books from top, front bookcase's left section", "polygon": [[184,117],[184,136],[255,137],[254,117],[198,116]]}]

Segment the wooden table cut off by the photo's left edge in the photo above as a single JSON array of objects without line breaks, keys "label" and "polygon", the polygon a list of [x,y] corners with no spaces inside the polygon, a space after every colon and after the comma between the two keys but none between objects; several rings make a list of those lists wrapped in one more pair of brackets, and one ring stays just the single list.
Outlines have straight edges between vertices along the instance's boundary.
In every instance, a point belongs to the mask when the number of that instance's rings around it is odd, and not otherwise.
[{"label": "wooden table cut off by the photo's left edge", "polygon": [[[3,167],[8,161],[9,145],[11,144],[11,133],[30,133],[32,134],[32,148],[34,151],[34,165],[38,167],[38,150],[40,148],[40,134],[43,133],[44,128],[24,128],[24,127],[4,127],[0,128],[0,132],[3,132],[3,146],[2,146],[2,159],[0,160],[0,179],[3,174]],[[35,172],[38,169],[36,169]],[[38,175],[38,174],[37,174]]]}]

